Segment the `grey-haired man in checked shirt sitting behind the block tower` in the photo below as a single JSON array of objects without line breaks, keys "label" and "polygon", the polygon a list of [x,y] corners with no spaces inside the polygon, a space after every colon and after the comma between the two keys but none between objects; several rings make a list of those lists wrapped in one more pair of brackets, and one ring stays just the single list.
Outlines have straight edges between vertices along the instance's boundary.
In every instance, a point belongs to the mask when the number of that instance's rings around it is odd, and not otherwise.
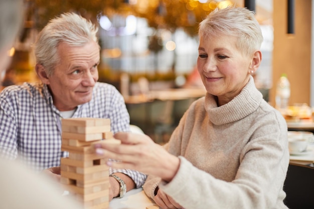
[{"label": "grey-haired man in checked shirt sitting behind the block tower", "polygon": [[[5,88],[0,94],[0,155],[60,179],[62,118],[109,118],[111,131],[129,131],[129,114],[118,90],[97,82],[98,28],[74,13],[51,20],[35,46],[38,83]],[[140,187],[146,175],[111,169],[126,190]],[[109,198],[122,197],[122,182],[109,177]]]}]

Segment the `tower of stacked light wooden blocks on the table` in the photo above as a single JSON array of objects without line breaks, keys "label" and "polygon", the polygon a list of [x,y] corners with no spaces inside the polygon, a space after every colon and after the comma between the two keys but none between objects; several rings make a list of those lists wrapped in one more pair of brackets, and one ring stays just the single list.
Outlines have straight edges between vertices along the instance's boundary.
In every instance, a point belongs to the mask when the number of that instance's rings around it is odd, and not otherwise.
[{"label": "tower of stacked light wooden blocks on the table", "polygon": [[110,131],[110,119],[62,119],[61,183],[84,208],[109,207],[109,167],[94,151],[95,143],[119,143]]}]

